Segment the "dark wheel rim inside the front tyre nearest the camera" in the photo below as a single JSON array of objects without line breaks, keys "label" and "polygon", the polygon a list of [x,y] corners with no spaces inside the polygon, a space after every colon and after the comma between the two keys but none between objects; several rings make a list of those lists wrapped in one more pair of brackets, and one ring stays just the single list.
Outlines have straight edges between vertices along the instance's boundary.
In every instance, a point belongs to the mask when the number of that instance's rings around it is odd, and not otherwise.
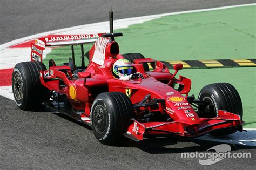
[{"label": "dark wheel rim inside the front tyre nearest the camera", "polygon": [[93,112],[93,125],[97,133],[102,134],[106,128],[106,110],[102,105],[97,105]]}]

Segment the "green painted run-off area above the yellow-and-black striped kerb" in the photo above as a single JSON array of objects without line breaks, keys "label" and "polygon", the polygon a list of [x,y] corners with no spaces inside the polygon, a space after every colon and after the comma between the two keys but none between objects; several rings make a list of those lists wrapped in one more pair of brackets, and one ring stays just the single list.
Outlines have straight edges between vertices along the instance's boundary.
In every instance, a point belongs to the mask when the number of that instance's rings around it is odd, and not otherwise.
[{"label": "green painted run-off area above the yellow-and-black striped kerb", "polygon": [[166,16],[118,30],[121,53],[158,60],[255,58],[256,5]]}]

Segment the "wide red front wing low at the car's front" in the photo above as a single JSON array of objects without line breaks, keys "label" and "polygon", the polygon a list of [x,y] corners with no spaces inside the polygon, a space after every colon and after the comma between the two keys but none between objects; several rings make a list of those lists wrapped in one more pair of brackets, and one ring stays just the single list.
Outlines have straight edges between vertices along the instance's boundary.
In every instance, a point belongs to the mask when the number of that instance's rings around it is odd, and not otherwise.
[{"label": "wide red front wing low at the car's front", "polygon": [[143,140],[143,137],[150,135],[198,137],[213,130],[226,128],[238,128],[239,131],[242,131],[244,121],[241,120],[239,115],[221,110],[218,112],[218,117],[200,118],[199,124],[187,124],[184,121],[140,123],[135,119],[131,119],[133,123],[128,127],[124,135],[132,140],[139,141]]}]

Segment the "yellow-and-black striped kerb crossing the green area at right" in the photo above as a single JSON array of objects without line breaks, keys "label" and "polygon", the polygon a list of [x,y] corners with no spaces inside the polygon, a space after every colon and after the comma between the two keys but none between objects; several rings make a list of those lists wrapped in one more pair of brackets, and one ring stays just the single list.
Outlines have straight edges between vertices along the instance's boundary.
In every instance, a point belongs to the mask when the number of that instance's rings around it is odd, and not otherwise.
[{"label": "yellow-and-black striped kerb crossing the green area at right", "polygon": [[173,69],[173,65],[177,63],[183,64],[183,69],[256,67],[256,59],[177,60],[161,62],[164,63],[168,67],[168,69]]}]

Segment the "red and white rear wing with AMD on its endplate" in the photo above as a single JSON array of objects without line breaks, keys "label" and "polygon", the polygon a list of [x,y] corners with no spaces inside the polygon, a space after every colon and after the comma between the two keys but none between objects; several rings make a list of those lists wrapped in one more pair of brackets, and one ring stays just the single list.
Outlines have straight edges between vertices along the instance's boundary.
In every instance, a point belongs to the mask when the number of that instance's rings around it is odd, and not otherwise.
[{"label": "red and white rear wing with AMD on its endplate", "polygon": [[[83,44],[94,43],[99,37],[102,37],[104,33],[93,33],[93,34],[83,34],[83,35],[60,35],[60,36],[51,36],[35,39],[35,43],[31,44],[31,61],[43,60],[43,50],[46,47],[54,46],[66,46],[71,45],[72,47],[72,57],[73,57],[73,45],[81,44],[81,51],[83,50]],[[83,57],[84,54],[82,54]],[[74,59],[73,59],[74,60]]]}]

